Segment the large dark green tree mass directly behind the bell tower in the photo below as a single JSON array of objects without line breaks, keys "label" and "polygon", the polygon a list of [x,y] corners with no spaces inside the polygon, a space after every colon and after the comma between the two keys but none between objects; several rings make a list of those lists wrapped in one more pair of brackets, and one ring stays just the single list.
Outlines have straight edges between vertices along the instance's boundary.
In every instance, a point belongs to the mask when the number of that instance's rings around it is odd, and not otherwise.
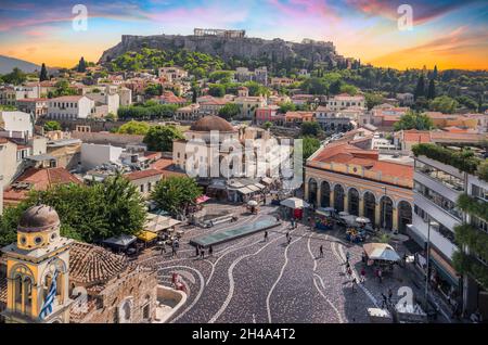
[{"label": "large dark green tree mass directly behind the bell tower", "polygon": [[0,218],[0,244],[15,240],[16,227],[25,209],[46,204],[56,209],[61,234],[93,242],[143,229],[146,210],[134,184],[117,174],[92,186],[57,184],[47,191],[31,191],[27,200],[8,207]]}]

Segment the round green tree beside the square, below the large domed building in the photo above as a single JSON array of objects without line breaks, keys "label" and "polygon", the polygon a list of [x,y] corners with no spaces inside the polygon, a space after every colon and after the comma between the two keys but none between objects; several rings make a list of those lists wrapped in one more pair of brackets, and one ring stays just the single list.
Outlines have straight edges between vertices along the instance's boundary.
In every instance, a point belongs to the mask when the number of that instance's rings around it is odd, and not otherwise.
[{"label": "round green tree beside the square, below the large domed building", "polygon": [[188,207],[202,195],[202,189],[189,177],[170,177],[157,182],[151,194],[156,205],[172,216],[187,214]]}]

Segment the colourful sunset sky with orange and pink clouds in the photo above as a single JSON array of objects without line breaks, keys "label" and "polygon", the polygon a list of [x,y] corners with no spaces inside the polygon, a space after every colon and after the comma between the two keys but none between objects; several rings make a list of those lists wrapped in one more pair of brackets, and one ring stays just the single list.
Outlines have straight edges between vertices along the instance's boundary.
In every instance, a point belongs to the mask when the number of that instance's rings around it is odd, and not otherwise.
[{"label": "colourful sunset sky with orange and pink clouds", "polygon": [[[77,31],[72,9],[88,9]],[[398,28],[398,7],[413,10],[412,30]],[[337,52],[395,68],[488,69],[487,1],[448,0],[0,0],[0,54],[74,66],[98,61],[121,35],[191,35],[194,27],[246,29],[249,37],[333,41]]]}]

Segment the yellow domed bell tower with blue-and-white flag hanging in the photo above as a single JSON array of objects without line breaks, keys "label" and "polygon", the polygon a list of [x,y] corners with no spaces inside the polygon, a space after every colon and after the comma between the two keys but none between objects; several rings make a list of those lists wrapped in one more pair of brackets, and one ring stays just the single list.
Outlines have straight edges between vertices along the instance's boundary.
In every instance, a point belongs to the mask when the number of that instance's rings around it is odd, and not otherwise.
[{"label": "yellow domed bell tower with blue-and-white flag hanging", "polygon": [[60,235],[54,208],[28,208],[17,227],[17,242],[2,248],[7,257],[7,322],[69,322],[70,239]]}]

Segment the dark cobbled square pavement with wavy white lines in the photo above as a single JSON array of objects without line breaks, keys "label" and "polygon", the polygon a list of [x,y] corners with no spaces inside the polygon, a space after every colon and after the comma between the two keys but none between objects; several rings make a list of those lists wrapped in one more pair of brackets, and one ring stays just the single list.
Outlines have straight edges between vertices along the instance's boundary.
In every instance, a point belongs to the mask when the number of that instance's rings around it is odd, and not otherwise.
[{"label": "dark cobbled square pavement with wavy white lines", "polygon": [[[367,309],[381,305],[382,293],[387,295],[391,289],[395,303],[400,286],[415,289],[406,269],[396,267],[383,283],[367,269],[365,283],[354,290],[345,272],[346,253],[359,281],[362,248],[344,242],[344,229],[317,232],[303,223],[291,229],[290,222],[283,221],[269,231],[267,242],[264,232],[258,232],[215,246],[214,255],[208,257],[207,251],[204,259],[196,258],[195,248],[188,244],[193,237],[251,223],[275,210],[265,206],[259,215],[242,214],[234,223],[188,228],[177,257],[149,250],[139,258],[158,269],[163,284],[171,285],[172,272],[183,279],[189,297],[170,322],[368,322]],[[323,257],[319,257],[321,244]]]}]

